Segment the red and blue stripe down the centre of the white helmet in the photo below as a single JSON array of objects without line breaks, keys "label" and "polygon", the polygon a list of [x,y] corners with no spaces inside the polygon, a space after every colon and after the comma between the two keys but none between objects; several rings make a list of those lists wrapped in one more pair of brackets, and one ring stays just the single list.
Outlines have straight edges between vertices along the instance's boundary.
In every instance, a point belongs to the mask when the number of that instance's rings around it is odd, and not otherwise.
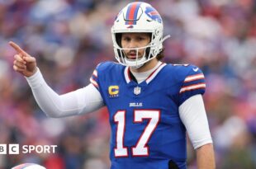
[{"label": "red and blue stripe down the centre of the white helmet", "polygon": [[126,25],[136,25],[141,2],[130,3],[126,12]]}]

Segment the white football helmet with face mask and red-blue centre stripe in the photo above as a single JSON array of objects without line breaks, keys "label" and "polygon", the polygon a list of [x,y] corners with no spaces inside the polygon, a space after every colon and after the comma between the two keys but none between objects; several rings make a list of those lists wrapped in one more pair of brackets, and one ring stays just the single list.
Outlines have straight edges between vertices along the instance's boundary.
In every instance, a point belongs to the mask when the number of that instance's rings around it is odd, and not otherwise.
[{"label": "white football helmet with face mask and red-blue centre stripe", "polygon": [[[133,68],[140,68],[144,63],[154,59],[162,50],[163,42],[163,21],[159,12],[146,2],[131,2],[124,7],[116,16],[116,21],[111,28],[113,46],[116,60]],[[136,59],[128,59],[121,47],[121,33],[149,33],[151,41],[149,45],[134,48]],[[145,49],[143,57],[139,58],[139,49]]]}]

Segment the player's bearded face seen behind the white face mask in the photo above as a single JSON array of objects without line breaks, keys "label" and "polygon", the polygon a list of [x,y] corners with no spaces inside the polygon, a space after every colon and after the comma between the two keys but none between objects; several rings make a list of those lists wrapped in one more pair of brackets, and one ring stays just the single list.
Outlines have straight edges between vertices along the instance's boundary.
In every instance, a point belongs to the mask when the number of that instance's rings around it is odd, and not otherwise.
[{"label": "player's bearded face seen behind the white face mask", "polygon": [[[147,33],[123,33],[121,35],[121,47],[128,59],[136,59],[137,51],[134,48],[145,47],[149,45],[150,36]],[[145,49],[138,50],[138,58],[141,58]]]}]

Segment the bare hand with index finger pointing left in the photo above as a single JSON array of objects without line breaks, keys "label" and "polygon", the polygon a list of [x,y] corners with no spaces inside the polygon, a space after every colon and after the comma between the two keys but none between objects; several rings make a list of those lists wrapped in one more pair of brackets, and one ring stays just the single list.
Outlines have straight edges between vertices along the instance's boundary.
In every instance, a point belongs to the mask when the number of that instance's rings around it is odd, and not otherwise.
[{"label": "bare hand with index finger pointing left", "polygon": [[31,77],[36,73],[36,58],[27,54],[21,47],[14,42],[10,41],[9,45],[17,51],[14,55],[13,69],[21,73],[23,76]]}]

